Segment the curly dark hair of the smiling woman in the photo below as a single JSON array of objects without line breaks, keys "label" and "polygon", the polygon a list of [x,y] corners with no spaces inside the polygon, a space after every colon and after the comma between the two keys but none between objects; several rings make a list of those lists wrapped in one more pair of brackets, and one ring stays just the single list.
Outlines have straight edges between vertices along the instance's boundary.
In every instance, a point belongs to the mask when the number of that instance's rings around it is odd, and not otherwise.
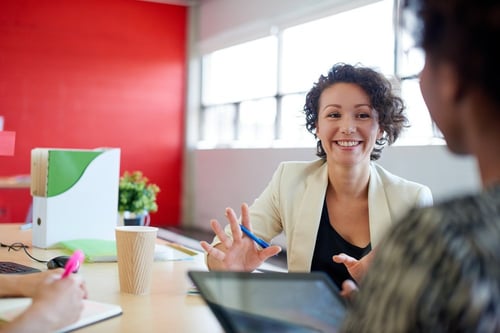
[{"label": "curly dark hair of the smiling woman", "polygon": [[[370,98],[373,109],[378,113],[378,123],[384,134],[380,139],[376,140],[375,147],[370,154],[372,161],[377,160],[380,158],[384,146],[393,144],[403,128],[407,127],[408,119],[404,113],[406,108],[404,102],[392,92],[392,85],[389,80],[371,68],[338,63],[333,65],[326,76],[321,75],[318,82],[306,95],[304,105],[306,128],[317,138],[316,124],[321,93],[326,88],[340,82],[354,83],[360,86]],[[326,158],[321,140],[317,142],[316,155]]]}]

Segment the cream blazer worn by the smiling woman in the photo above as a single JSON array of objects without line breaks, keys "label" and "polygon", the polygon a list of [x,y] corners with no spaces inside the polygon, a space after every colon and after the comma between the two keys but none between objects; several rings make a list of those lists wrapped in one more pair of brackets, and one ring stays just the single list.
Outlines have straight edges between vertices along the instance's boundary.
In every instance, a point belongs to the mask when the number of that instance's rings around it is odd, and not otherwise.
[{"label": "cream blazer worn by the smiling woman", "polygon": [[[250,206],[250,222],[258,237],[269,242],[284,233],[289,271],[310,270],[328,185],[327,170],[323,159],[282,162]],[[391,224],[412,207],[431,204],[432,194],[427,186],[391,174],[372,162],[368,186],[372,248]],[[229,225],[225,231],[230,235]],[[214,244],[218,242],[214,239]]]}]

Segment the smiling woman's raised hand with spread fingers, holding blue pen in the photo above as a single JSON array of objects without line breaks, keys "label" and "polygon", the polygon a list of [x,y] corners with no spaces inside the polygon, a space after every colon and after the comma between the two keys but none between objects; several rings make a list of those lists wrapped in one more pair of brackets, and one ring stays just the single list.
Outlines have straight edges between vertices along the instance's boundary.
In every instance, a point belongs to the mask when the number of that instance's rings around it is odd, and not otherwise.
[{"label": "smiling woman's raised hand with spread fingers, holding blue pen", "polygon": [[[216,246],[201,241],[200,245],[207,252],[207,265],[210,270],[224,271],[253,271],[258,268],[269,257],[278,254],[281,247],[271,245],[261,249],[249,237],[245,236],[240,229],[236,213],[231,208],[226,208],[226,218],[229,221],[232,238],[229,237],[217,220],[211,220],[210,226],[221,241]],[[241,205],[241,223],[250,231],[248,205]]]}]

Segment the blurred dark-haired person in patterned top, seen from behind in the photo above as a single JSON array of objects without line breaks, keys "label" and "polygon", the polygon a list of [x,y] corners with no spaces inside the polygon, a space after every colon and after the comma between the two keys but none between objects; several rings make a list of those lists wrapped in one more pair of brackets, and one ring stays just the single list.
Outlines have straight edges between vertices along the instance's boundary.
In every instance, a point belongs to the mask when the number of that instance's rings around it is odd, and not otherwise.
[{"label": "blurred dark-haired person in patterned top, seen from behind", "polygon": [[500,2],[402,7],[426,54],[425,103],[449,150],[476,158],[482,190],[415,209],[387,233],[344,331],[500,332]]}]

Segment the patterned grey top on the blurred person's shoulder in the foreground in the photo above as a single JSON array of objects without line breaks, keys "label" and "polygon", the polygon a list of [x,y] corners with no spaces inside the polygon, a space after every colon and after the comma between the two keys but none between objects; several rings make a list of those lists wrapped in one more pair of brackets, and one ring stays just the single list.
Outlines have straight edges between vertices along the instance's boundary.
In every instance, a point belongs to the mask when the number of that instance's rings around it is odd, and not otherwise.
[{"label": "patterned grey top on the blurred person's shoulder in the foreground", "polygon": [[[412,209],[385,234],[344,331],[359,331],[359,318],[376,322],[379,313],[372,310],[380,306],[380,299],[391,299],[386,307],[392,306],[401,318],[407,318],[410,329],[417,327],[412,320],[418,304],[418,312],[424,314],[418,320],[425,318],[419,327],[426,332],[458,323],[464,313],[496,318],[500,304],[498,212],[500,186]],[[429,313],[444,315],[425,315]]]}]

